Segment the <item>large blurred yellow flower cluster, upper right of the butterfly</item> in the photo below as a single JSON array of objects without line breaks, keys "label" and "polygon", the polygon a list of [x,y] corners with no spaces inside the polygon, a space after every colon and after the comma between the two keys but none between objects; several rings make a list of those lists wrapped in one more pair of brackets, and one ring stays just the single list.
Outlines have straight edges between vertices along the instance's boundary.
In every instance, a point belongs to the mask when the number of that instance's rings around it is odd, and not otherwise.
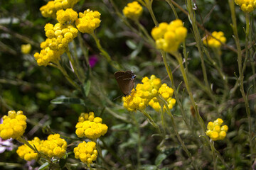
[{"label": "large blurred yellow flower cluster, upper right of the butterfly", "polygon": [[181,20],[174,20],[169,24],[160,23],[151,30],[151,35],[156,40],[158,49],[171,53],[178,50],[178,46],[186,38],[187,31]]}]

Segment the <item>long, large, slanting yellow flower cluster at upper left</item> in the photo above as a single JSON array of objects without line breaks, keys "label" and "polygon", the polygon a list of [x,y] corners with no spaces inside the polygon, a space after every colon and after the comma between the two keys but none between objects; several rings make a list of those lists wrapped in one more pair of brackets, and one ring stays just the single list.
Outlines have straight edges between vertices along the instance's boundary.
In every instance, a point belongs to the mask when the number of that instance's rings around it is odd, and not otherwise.
[{"label": "long, large, slanting yellow flower cluster at upper left", "polygon": [[78,36],[78,30],[71,24],[56,23],[55,26],[47,23],[45,26],[46,41],[41,42],[41,52],[36,52],[34,57],[39,66],[47,66],[50,62],[58,62],[63,55],[68,43]]}]

